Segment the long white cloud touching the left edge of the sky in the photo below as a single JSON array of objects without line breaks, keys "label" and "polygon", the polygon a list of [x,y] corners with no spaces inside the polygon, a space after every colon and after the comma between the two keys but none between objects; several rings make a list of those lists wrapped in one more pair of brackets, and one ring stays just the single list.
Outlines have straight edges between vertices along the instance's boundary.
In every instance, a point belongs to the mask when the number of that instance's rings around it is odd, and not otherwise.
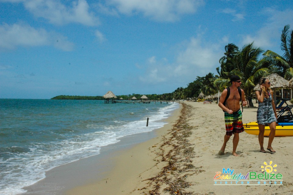
[{"label": "long white cloud touching the left edge of the sky", "polygon": [[0,25],[0,35],[0,49],[44,45],[53,45],[65,51],[73,49],[73,43],[67,41],[66,37],[24,24]]}]

